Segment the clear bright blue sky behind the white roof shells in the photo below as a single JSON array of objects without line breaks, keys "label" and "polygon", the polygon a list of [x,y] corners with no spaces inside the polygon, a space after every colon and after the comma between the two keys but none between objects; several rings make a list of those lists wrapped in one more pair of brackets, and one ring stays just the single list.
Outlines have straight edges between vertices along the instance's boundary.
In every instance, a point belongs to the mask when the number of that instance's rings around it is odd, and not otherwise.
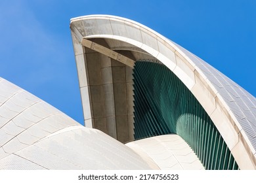
[{"label": "clear bright blue sky behind the white roof shells", "polygon": [[83,124],[69,24],[89,14],[144,24],[256,96],[255,0],[0,0],[0,76]]}]

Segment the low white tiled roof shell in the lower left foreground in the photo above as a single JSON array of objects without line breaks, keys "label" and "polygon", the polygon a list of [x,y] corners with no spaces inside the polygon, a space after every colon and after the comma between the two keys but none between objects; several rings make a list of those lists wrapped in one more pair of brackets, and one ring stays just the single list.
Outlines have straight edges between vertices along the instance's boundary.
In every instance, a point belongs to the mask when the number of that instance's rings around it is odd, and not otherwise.
[{"label": "low white tiled roof shell in the lower left foreground", "polygon": [[0,78],[0,169],[152,167],[121,142]]}]

